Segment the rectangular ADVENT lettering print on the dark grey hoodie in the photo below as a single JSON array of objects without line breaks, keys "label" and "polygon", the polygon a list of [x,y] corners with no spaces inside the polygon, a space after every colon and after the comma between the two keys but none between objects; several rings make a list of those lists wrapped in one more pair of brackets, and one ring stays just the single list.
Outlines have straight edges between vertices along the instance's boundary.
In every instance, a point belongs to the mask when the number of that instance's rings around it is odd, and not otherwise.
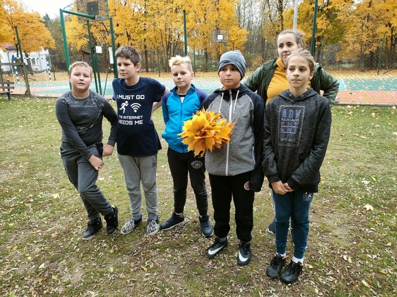
[{"label": "rectangular ADVENT lettering print on the dark grey hoodie", "polygon": [[302,133],[304,106],[280,106],[279,144],[298,146]]}]

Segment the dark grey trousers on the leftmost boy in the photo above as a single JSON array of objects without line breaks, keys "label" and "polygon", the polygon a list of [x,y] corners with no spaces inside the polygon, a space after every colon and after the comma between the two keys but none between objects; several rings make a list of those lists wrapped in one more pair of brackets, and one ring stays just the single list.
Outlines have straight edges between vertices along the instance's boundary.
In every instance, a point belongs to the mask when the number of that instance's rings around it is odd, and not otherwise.
[{"label": "dark grey trousers on the leftmost boy", "polygon": [[[91,153],[102,159],[97,145],[91,145],[89,149]],[[60,156],[70,182],[80,193],[88,220],[99,218],[99,214],[104,216],[110,214],[112,206],[96,185],[98,171],[74,146],[63,143],[60,146]]]}]

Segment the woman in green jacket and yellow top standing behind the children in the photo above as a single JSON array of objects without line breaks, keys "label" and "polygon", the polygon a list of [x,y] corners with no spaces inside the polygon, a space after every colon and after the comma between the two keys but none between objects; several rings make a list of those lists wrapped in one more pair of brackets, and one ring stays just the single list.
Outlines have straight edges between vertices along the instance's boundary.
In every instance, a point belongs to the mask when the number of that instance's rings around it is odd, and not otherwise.
[{"label": "woman in green jacket and yellow top standing behind the children", "polygon": [[[262,64],[244,82],[249,89],[257,91],[266,104],[289,88],[284,62],[294,50],[303,48],[302,37],[303,32],[301,31],[291,29],[281,31],[277,37],[279,58]],[[313,78],[308,81],[308,87],[313,88],[319,94],[322,90],[322,95],[328,99],[329,105],[333,106],[337,98],[339,82],[323,70],[318,63],[315,65]],[[269,224],[267,232],[276,234],[274,220]]]}]

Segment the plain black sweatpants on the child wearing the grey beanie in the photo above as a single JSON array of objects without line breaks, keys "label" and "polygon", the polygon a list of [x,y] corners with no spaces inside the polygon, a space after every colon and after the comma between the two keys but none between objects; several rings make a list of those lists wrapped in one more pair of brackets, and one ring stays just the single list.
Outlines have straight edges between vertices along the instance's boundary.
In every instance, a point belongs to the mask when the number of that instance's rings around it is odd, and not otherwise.
[{"label": "plain black sweatpants on the child wearing the grey beanie", "polygon": [[235,176],[209,174],[211,184],[214,231],[217,237],[225,237],[230,231],[230,203],[233,197],[237,238],[243,242],[252,239],[254,226],[253,204],[255,192],[246,190],[244,184],[250,180],[252,171]]}]

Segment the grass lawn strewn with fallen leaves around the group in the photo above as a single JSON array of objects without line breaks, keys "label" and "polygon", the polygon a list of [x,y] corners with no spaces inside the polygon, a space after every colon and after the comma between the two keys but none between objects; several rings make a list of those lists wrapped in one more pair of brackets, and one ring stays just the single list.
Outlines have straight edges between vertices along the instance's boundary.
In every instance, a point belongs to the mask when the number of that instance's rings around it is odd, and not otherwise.
[{"label": "grass lawn strewn with fallen leaves around the group", "polygon": [[[396,296],[397,111],[335,106],[320,193],[311,207],[303,274],[285,285],[266,277],[274,237],[269,190],[254,204],[253,257],[236,263],[231,221],[229,246],[205,256],[213,239],[200,235],[192,189],[177,232],[107,236],[103,228],[81,240],[86,215],[59,156],[60,127],[54,98],[0,97],[0,294],[9,296]],[[161,110],[154,121],[159,134]],[[105,125],[105,137],[109,125]],[[158,156],[159,215],[173,210],[166,143]],[[130,217],[123,171],[114,154],[105,159],[98,185]],[[209,182],[207,183],[208,192]],[[233,210],[232,210],[233,211]],[[209,213],[213,210],[209,201]],[[143,215],[146,216],[145,206]],[[211,219],[213,222],[213,220]],[[288,243],[288,255],[293,245]]]}]

